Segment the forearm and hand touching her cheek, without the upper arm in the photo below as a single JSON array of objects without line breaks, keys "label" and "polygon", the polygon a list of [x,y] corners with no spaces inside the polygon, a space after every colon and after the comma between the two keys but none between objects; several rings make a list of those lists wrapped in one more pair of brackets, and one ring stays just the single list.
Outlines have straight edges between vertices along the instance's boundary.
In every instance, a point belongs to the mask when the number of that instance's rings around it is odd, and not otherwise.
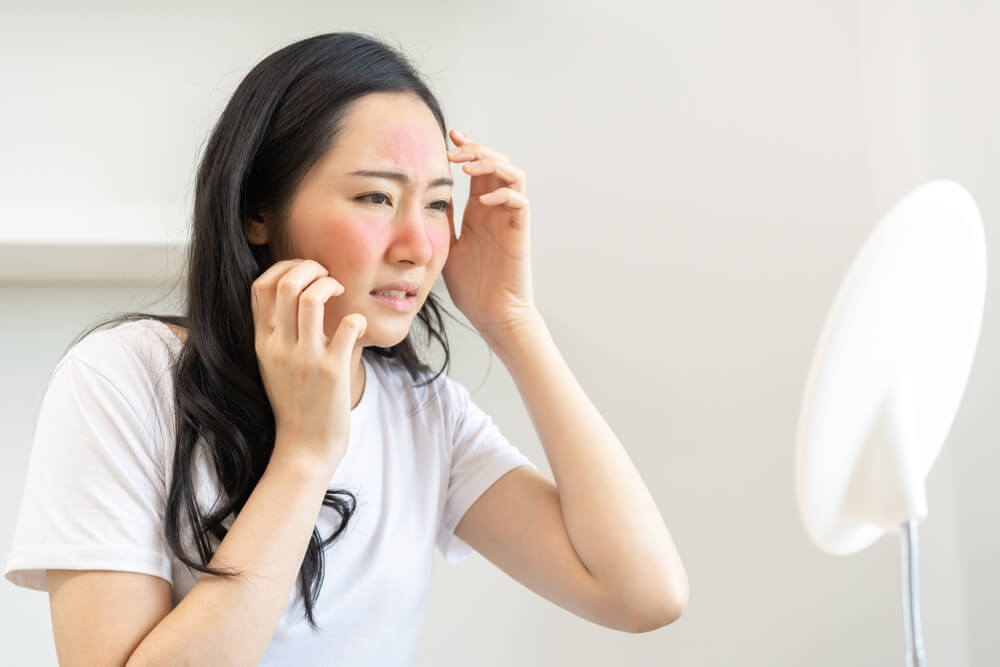
[{"label": "forearm and hand touching her cheek, without the upper arm", "polygon": [[255,665],[263,655],[350,437],[350,362],[366,322],[348,315],[326,336],[326,301],[343,290],[313,261],[277,262],[254,282],[255,348],[277,437],[209,563],[241,576],[202,575],[129,664]]}]

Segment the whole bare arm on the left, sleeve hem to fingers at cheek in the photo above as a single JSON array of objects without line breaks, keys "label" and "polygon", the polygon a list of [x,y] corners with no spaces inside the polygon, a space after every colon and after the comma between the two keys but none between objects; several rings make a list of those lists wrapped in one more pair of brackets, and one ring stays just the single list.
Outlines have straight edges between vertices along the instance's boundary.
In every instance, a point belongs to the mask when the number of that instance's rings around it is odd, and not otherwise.
[{"label": "whole bare arm on the left, sleeve hem to fingers at cheek", "polygon": [[[366,322],[324,304],[343,287],[316,262],[282,261],[255,282],[255,347],[275,415],[274,451],[202,574],[170,610],[167,582],[127,572],[51,573],[63,664],[256,665],[274,634],[330,479],[347,449],[350,361]],[[134,647],[134,650],[133,650]]]}]

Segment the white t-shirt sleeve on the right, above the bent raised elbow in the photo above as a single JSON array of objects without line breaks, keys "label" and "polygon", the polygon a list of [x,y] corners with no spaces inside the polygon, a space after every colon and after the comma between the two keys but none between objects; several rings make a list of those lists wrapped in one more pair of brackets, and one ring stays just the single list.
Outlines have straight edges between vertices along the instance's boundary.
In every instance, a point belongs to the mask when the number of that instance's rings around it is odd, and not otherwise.
[{"label": "white t-shirt sleeve on the right, above the bent raised elbow", "polygon": [[446,385],[454,428],[451,472],[437,546],[448,562],[458,563],[473,553],[472,547],[455,535],[455,527],[466,510],[514,468],[527,465],[537,470],[537,466],[507,440],[464,386],[451,379]]}]

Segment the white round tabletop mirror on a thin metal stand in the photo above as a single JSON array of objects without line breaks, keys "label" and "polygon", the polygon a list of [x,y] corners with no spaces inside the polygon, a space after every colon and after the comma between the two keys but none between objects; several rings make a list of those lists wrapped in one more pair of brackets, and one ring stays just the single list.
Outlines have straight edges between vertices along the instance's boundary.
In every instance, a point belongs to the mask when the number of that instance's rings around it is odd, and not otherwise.
[{"label": "white round tabletop mirror on a thin metal stand", "polygon": [[916,523],[927,515],[924,481],[965,392],[985,295],[986,246],[972,197],[949,181],[917,188],[871,232],[844,277],[799,414],[795,489],[812,541],[847,555],[887,530],[903,532],[916,664]]}]

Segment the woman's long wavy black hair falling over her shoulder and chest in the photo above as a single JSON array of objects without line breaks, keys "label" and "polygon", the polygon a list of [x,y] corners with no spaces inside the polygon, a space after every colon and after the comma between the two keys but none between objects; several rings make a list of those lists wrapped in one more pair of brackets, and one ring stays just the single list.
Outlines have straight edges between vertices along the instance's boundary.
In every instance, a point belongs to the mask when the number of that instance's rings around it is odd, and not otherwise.
[{"label": "woman's long wavy black hair falling over her shoulder and chest", "polygon": [[[280,221],[292,194],[319,159],[333,146],[348,105],[374,92],[409,91],[434,113],[446,137],[444,116],[434,95],[413,65],[397,49],[357,33],[317,35],[286,46],[258,63],[237,87],[208,139],[198,167],[191,243],[187,257],[186,314],[126,313],[106,319],[80,334],[140,319],[182,326],[187,336],[173,362],[176,447],[167,494],[165,537],[177,559],[188,567],[219,576],[233,569],[208,566],[227,529],[223,521],[242,510],[274,450],[275,424],[254,351],[250,288],[271,264],[282,259],[280,224],[272,241],[251,245],[247,225],[268,212]],[[411,331],[391,348],[366,347],[401,364],[417,383],[427,384],[450,361],[441,313],[431,293],[417,313],[432,340],[444,352],[437,373],[420,360]],[[446,311],[444,311],[446,312]],[[224,492],[210,510],[199,507],[192,467],[199,447],[214,466]],[[313,607],[323,584],[323,550],[347,527],[356,507],[354,494],[327,490],[325,507],[341,517],[323,538],[313,529],[299,569],[299,589],[306,618],[318,630]],[[182,529],[190,529],[197,554],[183,547]]]}]

